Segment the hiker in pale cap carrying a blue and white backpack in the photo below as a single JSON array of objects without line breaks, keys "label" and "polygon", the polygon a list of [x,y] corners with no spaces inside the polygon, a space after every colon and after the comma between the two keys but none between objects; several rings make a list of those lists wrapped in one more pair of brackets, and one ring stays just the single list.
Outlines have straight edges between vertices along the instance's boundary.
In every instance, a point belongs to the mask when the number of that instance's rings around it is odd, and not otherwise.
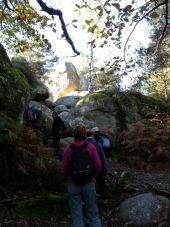
[{"label": "hiker in pale cap carrying a blue and white backpack", "polygon": [[111,157],[112,143],[107,135],[99,131],[98,127],[92,128],[94,132],[94,139],[101,143],[106,158]]}]

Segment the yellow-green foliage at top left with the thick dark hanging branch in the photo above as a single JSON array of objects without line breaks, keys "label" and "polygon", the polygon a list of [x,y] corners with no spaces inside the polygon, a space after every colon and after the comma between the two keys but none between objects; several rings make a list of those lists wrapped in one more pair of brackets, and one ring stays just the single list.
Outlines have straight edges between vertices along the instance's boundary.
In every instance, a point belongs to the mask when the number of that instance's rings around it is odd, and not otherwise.
[{"label": "yellow-green foliage at top left with the thick dark hanging branch", "polygon": [[61,10],[48,7],[42,0],[37,0],[41,9],[47,12],[42,16],[30,4],[29,0],[2,0],[0,2],[1,42],[4,42],[9,49],[16,52],[23,52],[27,49],[51,48],[51,44],[42,32],[50,27],[56,32],[54,16],[58,16],[63,30],[63,37],[71,45],[74,53],[79,55],[72,42],[63,19]]}]

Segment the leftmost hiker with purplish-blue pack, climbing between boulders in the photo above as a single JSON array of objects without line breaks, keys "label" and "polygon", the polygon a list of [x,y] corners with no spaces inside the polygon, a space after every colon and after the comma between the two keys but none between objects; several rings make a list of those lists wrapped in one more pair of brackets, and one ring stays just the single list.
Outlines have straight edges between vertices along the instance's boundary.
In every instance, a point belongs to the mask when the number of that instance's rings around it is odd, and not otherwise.
[{"label": "leftmost hiker with purplish-blue pack, climbing between boulders", "polygon": [[34,128],[35,121],[37,120],[37,112],[33,106],[27,107],[24,111],[26,125]]}]

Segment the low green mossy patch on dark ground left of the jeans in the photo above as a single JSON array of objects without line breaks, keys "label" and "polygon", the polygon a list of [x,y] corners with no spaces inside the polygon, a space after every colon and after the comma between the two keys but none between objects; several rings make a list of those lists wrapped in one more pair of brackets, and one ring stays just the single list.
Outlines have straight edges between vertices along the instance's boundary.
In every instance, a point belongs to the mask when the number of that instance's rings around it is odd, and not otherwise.
[{"label": "low green mossy patch on dark ground left of the jeans", "polygon": [[65,196],[45,194],[18,202],[15,206],[15,212],[29,220],[63,218],[68,214],[68,202]]}]

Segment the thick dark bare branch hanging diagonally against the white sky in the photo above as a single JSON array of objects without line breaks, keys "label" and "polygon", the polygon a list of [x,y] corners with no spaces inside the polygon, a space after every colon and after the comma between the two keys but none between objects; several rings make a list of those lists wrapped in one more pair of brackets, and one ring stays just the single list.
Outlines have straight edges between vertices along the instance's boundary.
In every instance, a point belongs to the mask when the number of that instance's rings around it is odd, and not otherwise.
[{"label": "thick dark bare branch hanging diagonally against the white sky", "polygon": [[63,30],[63,36],[66,38],[67,42],[71,45],[74,53],[76,53],[76,55],[80,55],[80,52],[76,50],[74,43],[73,43],[72,39],[70,38],[70,36],[67,32],[66,25],[65,25],[65,22],[64,22],[64,19],[63,19],[63,14],[62,14],[61,10],[48,7],[42,0],[37,0],[37,2],[41,6],[43,11],[47,12],[49,15],[57,15],[59,17],[59,20],[60,20],[60,23],[61,23],[61,28]]}]

